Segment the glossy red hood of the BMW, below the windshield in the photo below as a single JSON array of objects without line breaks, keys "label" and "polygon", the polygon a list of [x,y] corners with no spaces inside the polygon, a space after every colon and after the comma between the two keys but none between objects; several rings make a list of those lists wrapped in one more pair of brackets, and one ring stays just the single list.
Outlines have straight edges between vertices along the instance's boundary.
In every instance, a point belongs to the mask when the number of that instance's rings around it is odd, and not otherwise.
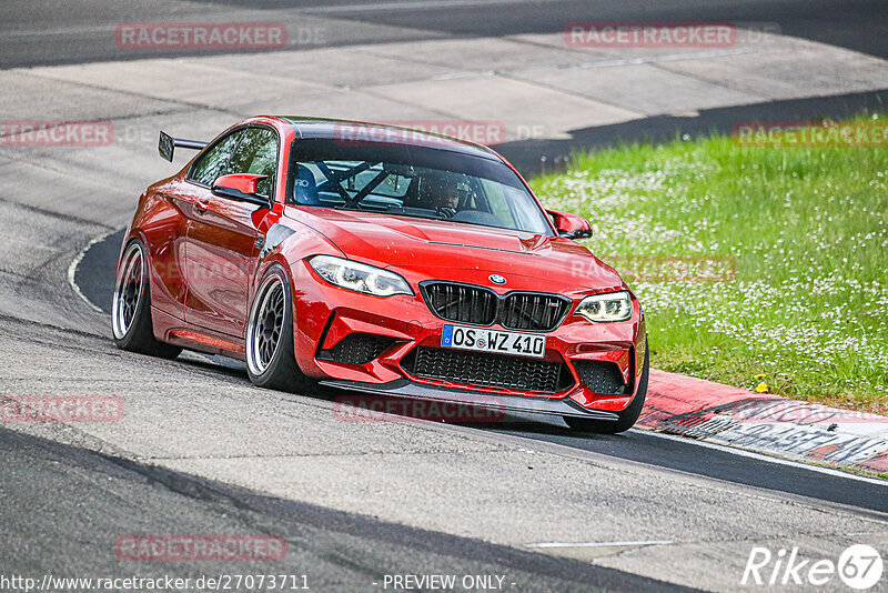
[{"label": "glossy red hood of the BMW, below the windshield", "polygon": [[350,259],[406,272],[412,280],[491,285],[487,275],[495,273],[507,279],[508,290],[563,293],[623,283],[613,268],[568,239],[377,212],[289,207],[285,214],[324,234]]}]

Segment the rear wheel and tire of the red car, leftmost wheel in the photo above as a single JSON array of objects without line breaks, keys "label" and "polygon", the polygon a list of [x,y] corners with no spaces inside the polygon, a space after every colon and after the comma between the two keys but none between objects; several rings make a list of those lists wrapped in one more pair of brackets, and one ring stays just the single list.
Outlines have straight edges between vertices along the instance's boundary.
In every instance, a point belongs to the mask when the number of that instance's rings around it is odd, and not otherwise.
[{"label": "rear wheel and tire of the red car, leftmost wheel", "polygon": [[151,323],[151,287],[148,255],[141,241],[127,245],[118,267],[111,305],[111,333],[121,350],[174,359],[182,349],[154,338]]}]

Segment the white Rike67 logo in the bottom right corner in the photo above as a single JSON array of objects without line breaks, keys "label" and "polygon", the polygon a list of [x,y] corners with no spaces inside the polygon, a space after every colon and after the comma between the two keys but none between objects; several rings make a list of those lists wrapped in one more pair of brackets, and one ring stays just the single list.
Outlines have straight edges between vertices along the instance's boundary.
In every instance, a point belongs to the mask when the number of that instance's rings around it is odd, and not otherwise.
[{"label": "white Rike67 logo in the bottom right corner", "polygon": [[882,561],[875,547],[866,544],[848,546],[838,562],[829,559],[806,559],[798,552],[780,549],[773,553],[767,547],[753,547],[743,572],[741,585],[831,585],[836,575],[850,589],[866,591],[881,580]]}]

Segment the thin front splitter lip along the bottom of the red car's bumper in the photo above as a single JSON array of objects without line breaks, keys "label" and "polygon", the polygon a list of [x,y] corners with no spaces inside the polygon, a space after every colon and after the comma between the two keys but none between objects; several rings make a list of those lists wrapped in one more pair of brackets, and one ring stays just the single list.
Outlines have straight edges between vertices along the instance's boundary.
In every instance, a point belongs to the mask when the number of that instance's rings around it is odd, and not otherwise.
[{"label": "thin front splitter lip along the bottom of the red car's bumper", "polygon": [[407,379],[396,379],[389,383],[363,383],[327,379],[321,385],[346,391],[360,391],[393,398],[432,400],[446,403],[462,403],[478,408],[490,408],[506,412],[532,412],[557,416],[592,418],[616,422],[619,415],[604,410],[586,410],[569,398],[546,399],[521,395],[500,395],[444,386],[425,385]]}]

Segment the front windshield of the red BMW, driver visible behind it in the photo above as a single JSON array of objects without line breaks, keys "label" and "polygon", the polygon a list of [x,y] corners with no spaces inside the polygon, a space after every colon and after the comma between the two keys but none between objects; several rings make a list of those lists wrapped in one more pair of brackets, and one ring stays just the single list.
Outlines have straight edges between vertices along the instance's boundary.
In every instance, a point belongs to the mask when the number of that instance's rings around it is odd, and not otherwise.
[{"label": "front windshield of the red BMW, driver visible behind it", "polygon": [[287,203],[552,234],[508,167],[434,148],[296,141]]}]

